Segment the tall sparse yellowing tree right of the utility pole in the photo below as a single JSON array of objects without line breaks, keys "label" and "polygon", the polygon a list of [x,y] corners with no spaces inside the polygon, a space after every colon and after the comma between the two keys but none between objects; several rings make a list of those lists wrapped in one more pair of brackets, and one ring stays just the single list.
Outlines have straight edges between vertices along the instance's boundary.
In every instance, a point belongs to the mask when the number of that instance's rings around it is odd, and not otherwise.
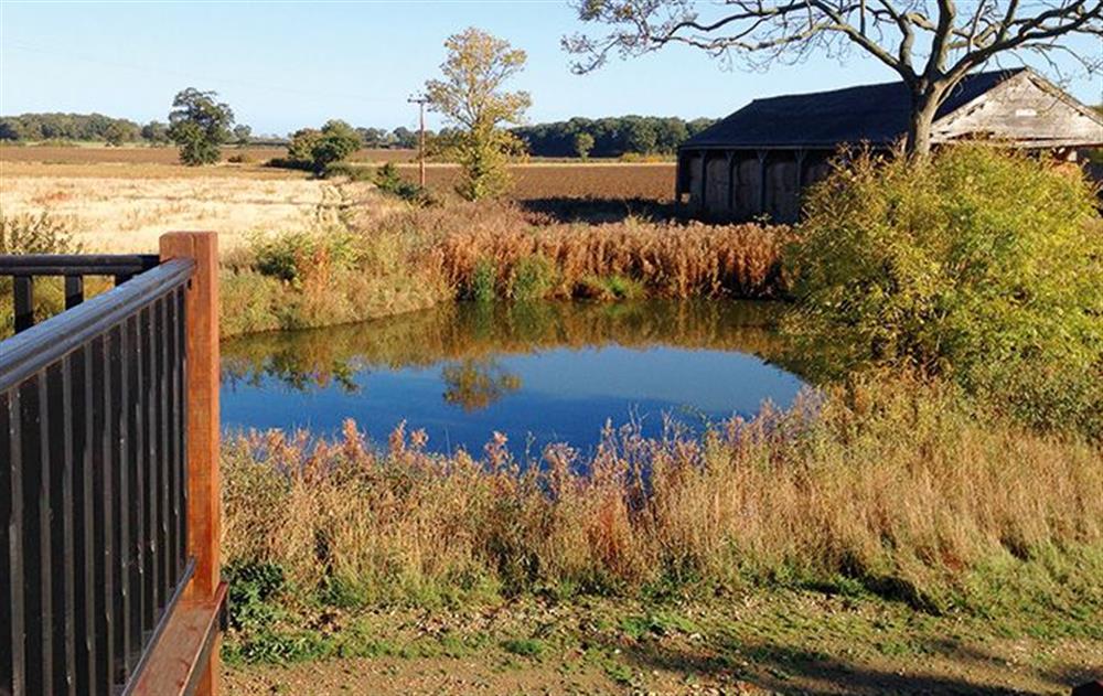
[{"label": "tall sparse yellowing tree right of the utility pole", "polygon": [[463,168],[457,191],[465,199],[500,195],[510,186],[506,167],[523,143],[502,126],[520,125],[532,99],[525,92],[504,92],[504,83],[525,66],[525,52],[510,42],[471,28],[449,36],[442,79],[426,83],[429,108],[459,128],[449,148]]}]

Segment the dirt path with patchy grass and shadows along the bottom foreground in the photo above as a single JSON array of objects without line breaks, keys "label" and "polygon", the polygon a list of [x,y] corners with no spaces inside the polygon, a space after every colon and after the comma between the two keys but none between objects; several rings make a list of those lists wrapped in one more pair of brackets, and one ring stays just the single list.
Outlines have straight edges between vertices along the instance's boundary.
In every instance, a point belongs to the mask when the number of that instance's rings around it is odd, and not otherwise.
[{"label": "dirt path with patchy grass and shadows along the bottom foreground", "polygon": [[960,617],[813,595],[663,609],[529,601],[355,621],[365,638],[342,650],[356,656],[231,664],[226,693],[1068,694],[1103,675],[1103,640],[997,638]]}]

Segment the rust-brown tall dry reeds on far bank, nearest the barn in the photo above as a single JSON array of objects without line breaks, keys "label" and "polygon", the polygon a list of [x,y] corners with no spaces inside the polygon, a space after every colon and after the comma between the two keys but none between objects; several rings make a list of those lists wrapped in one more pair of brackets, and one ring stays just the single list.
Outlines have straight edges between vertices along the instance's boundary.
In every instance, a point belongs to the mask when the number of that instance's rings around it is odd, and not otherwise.
[{"label": "rust-brown tall dry reeds on far bank, nearest the barn", "polygon": [[758,224],[534,221],[514,204],[413,211],[397,224],[428,236],[422,263],[442,269],[453,287],[471,288],[492,268],[499,295],[510,296],[523,263],[535,258],[553,270],[546,295],[557,298],[590,296],[596,281],[612,277],[657,297],[775,297],[789,240],[786,227]]}]

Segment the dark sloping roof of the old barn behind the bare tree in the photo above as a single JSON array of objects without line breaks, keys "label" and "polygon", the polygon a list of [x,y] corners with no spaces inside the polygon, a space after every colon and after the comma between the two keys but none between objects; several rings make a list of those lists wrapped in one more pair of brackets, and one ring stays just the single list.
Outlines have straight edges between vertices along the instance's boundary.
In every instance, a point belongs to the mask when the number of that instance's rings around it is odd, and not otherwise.
[{"label": "dark sloping roof of the old barn behind the bare tree", "polygon": [[[939,108],[941,118],[1025,68],[975,73]],[[903,82],[754,99],[683,144],[727,148],[888,146],[908,131],[911,95]]]}]

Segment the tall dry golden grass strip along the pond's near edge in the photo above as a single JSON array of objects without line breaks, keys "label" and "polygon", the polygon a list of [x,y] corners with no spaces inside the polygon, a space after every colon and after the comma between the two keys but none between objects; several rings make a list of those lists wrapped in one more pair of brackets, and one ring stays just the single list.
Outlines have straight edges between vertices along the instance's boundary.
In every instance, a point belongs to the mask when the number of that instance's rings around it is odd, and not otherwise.
[{"label": "tall dry golden grass strip along the pond's near edge", "polygon": [[502,438],[446,458],[403,429],[375,451],[352,422],[335,442],[251,433],[223,457],[224,549],[361,601],[843,578],[936,609],[986,564],[1099,555],[1103,452],[965,404],[855,383],[704,440],[611,431],[591,461],[538,465]]}]

